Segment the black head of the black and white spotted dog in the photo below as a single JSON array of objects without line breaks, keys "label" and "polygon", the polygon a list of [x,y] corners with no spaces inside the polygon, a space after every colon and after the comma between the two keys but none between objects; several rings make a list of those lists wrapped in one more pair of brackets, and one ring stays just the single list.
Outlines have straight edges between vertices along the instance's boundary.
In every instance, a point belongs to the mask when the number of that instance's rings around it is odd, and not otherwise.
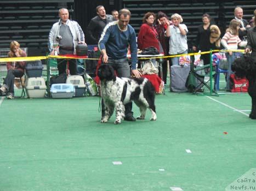
[{"label": "black head of the black and white spotted dog", "polygon": [[115,70],[110,64],[101,64],[98,70],[98,76],[100,80],[116,81]]}]

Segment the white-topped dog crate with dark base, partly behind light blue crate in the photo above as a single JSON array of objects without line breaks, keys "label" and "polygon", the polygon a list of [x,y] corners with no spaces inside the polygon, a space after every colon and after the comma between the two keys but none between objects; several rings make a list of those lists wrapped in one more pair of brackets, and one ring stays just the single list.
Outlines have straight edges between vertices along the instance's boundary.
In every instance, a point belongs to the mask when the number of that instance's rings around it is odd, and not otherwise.
[{"label": "white-topped dog crate with dark base, partly behind light blue crate", "polygon": [[66,83],[71,83],[75,87],[75,97],[81,97],[84,95],[84,92],[86,91],[86,85],[84,84],[82,76],[71,75],[67,77]]}]

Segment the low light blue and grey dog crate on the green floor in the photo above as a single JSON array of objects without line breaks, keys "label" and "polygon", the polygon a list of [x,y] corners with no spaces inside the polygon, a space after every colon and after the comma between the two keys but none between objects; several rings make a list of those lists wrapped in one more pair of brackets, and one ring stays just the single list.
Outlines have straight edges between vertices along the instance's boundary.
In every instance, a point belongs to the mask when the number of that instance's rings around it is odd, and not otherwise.
[{"label": "low light blue and grey dog crate on the green floor", "polygon": [[52,98],[72,98],[75,96],[75,88],[71,83],[54,83],[50,87]]}]

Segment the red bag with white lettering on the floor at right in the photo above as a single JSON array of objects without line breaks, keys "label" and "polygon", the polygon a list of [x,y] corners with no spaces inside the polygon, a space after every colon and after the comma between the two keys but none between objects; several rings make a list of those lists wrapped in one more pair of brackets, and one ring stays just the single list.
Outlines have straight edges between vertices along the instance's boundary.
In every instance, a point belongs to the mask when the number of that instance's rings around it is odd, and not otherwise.
[{"label": "red bag with white lettering on the floor at right", "polygon": [[235,74],[230,74],[231,92],[248,92],[249,81],[246,77],[237,77]]}]

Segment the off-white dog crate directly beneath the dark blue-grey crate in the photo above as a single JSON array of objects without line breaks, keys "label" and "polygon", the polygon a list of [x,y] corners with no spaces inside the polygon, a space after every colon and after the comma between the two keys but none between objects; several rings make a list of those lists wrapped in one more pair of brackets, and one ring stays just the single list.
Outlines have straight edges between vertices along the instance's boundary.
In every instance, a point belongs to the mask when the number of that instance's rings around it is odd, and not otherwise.
[{"label": "off-white dog crate directly beneath the dark blue-grey crate", "polygon": [[43,77],[27,78],[25,88],[27,97],[29,98],[43,98],[46,92],[46,85]]}]

